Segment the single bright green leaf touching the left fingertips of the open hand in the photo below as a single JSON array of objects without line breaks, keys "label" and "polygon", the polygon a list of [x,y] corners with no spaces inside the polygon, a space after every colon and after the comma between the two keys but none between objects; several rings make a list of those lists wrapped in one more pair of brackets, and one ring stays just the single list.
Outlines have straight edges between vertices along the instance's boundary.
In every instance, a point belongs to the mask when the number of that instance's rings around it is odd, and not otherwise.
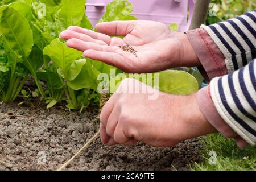
[{"label": "single bright green leaf touching the left fingertips of the open hand", "polygon": [[69,72],[70,68],[72,67],[73,70],[73,67],[77,67],[77,64],[81,65],[80,62],[74,62],[77,58],[81,57],[82,53],[65,46],[64,43],[60,42],[60,39],[53,40],[49,46],[44,48],[43,53],[51,57],[53,63],[57,68],[61,69],[64,78],[67,80],[75,76],[75,73],[72,74]]}]

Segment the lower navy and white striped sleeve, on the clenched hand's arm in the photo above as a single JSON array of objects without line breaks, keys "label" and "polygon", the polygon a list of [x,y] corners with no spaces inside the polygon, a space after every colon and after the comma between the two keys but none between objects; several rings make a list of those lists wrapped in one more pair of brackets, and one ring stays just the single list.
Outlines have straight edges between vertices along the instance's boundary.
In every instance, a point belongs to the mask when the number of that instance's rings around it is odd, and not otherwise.
[{"label": "lower navy and white striped sleeve, on the clenched hand's arm", "polygon": [[256,144],[256,59],[246,67],[216,77],[210,94],[218,113],[238,135]]}]

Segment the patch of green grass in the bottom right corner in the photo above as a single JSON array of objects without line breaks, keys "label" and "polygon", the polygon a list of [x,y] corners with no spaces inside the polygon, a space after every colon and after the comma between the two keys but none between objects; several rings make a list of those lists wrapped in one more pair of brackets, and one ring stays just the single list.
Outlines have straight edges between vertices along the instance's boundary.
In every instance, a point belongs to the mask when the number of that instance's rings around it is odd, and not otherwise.
[{"label": "patch of green grass in the bottom right corner", "polygon": [[[256,147],[247,146],[241,150],[232,139],[221,134],[209,134],[199,138],[202,144],[201,163],[190,166],[194,171],[255,171]],[[217,154],[216,164],[209,164],[210,151]]]}]

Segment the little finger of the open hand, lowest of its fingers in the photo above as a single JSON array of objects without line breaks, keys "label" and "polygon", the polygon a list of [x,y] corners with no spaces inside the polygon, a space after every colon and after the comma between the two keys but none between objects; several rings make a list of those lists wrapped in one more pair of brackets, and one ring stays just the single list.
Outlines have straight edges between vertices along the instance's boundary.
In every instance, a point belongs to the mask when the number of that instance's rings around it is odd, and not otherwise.
[{"label": "little finger of the open hand, lowest of its fingers", "polygon": [[106,64],[113,65],[123,71],[126,71],[127,63],[123,56],[115,52],[102,52],[96,50],[84,51],[83,56],[93,60],[99,60]]}]

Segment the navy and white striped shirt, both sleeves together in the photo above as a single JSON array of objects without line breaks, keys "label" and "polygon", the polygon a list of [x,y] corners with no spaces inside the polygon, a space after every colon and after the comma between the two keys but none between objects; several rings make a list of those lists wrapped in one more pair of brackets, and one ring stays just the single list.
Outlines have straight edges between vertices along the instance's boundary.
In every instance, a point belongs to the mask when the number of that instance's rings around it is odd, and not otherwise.
[{"label": "navy and white striped shirt, both sleeves together", "polygon": [[210,82],[218,113],[247,143],[256,144],[256,10],[201,26],[225,56],[229,74]]}]

